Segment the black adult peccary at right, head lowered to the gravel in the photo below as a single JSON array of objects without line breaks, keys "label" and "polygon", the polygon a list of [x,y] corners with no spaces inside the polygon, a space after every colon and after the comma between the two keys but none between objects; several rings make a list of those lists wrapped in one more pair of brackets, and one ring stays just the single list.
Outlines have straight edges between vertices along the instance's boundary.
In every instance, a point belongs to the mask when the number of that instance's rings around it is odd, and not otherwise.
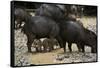
[{"label": "black adult peccary at right, head lowered to the gravel", "polygon": [[82,24],[77,21],[65,21],[60,23],[60,36],[62,38],[64,52],[66,52],[66,42],[71,50],[71,44],[76,43],[78,49],[84,52],[84,46],[90,46],[91,52],[97,52],[97,36],[94,32],[85,29]]}]

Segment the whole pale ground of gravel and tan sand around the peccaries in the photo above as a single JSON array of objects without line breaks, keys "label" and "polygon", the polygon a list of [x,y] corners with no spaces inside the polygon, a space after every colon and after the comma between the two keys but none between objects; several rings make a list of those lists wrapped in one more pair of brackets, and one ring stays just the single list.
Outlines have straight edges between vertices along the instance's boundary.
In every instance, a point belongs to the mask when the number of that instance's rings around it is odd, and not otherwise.
[{"label": "whole pale ground of gravel and tan sand around the peccaries", "polygon": [[[85,28],[96,31],[96,17],[82,17],[79,19],[83,22]],[[93,62],[97,61],[97,54],[90,53],[91,48],[85,47],[86,53],[78,52],[76,44],[72,44],[73,52],[70,53],[66,43],[67,53],[63,53],[63,49],[57,48],[46,53],[28,53],[27,52],[27,37],[21,33],[21,29],[15,30],[15,65],[26,66],[30,64],[59,64],[59,63],[74,63],[74,62]],[[34,49],[34,48],[33,48]]]}]

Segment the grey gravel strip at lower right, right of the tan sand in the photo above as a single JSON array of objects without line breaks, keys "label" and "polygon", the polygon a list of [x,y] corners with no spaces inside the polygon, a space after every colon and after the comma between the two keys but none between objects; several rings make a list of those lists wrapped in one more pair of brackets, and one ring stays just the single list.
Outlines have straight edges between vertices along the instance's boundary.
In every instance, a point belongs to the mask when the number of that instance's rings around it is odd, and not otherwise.
[{"label": "grey gravel strip at lower right, right of the tan sand", "polygon": [[66,53],[66,54],[59,54],[56,56],[56,62],[63,62],[63,63],[74,63],[74,62],[96,62],[97,55],[93,53]]}]

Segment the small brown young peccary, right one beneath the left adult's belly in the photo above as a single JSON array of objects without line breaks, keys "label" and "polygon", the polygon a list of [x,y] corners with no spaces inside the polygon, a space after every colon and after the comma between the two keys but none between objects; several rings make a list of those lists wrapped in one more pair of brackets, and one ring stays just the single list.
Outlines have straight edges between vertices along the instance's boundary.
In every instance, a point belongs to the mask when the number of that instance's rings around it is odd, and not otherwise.
[{"label": "small brown young peccary, right one beneath the left adult's belly", "polygon": [[44,52],[47,52],[54,50],[54,46],[58,46],[59,44],[56,39],[45,38],[42,42],[42,45],[44,47]]}]

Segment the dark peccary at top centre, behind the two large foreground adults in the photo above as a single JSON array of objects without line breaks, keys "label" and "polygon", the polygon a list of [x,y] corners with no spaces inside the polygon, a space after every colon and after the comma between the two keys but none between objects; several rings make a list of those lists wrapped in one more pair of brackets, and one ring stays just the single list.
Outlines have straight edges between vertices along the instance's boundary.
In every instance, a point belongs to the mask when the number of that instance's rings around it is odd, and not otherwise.
[{"label": "dark peccary at top centre, behind the two large foreground adults", "polygon": [[46,16],[53,20],[62,20],[64,16],[64,5],[42,4],[35,12],[36,16]]}]

